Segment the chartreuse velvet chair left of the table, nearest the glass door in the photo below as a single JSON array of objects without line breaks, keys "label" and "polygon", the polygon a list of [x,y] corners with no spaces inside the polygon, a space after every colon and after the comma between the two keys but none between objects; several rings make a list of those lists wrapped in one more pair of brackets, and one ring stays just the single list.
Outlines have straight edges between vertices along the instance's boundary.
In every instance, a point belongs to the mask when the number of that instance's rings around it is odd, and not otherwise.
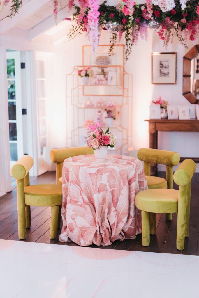
[{"label": "chartreuse velvet chair left of the table, nearest the glass door", "polygon": [[57,237],[58,212],[62,204],[62,185],[30,185],[32,166],[32,157],[24,155],[11,169],[12,176],[17,179],[18,237],[25,239],[26,228],[31,226],[30,206],[51,206],[50,238],[54,239]]}]

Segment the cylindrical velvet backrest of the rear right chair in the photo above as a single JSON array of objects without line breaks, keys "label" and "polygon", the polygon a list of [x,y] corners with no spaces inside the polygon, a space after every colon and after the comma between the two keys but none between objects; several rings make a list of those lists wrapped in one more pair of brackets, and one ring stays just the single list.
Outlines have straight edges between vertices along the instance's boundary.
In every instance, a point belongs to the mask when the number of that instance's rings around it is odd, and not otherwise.
[{"label": "cylindrical velvet backrest of the rear right chair", "polygon": [[172,151],[141,148],[138,150],[138,159],[144,162],[154,162],[155,164],[177,166],[180,162],[180,155]]}]

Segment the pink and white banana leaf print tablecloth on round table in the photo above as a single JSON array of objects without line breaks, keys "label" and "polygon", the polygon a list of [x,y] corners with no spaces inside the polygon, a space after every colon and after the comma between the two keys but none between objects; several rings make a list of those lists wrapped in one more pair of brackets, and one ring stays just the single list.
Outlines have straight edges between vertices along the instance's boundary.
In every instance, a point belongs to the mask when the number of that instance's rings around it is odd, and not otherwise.
[{"label": "pink and white banana leaf print tablecloth on round table", "polygon": [[135,194],[148,189],[141,161],[130,156],[95,155],[64,160],[63,227],[59,240],[88,246],[110,245],[141,233],[141,210]]}]

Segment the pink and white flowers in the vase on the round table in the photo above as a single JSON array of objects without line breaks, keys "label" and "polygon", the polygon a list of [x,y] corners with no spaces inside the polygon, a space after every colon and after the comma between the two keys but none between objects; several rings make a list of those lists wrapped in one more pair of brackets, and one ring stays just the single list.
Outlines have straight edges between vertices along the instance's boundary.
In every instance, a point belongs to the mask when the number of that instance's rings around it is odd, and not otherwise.
[{"label": "pink and white flowers in the vase on the round table", "polygon": [[102,146],[109,146],[111,148],[115,147],[117,140],[109,132],[109,128],[104,132],[101,123],[95,122],[95,125],[89,125],[87,128],[87,146],[92,147],[93,150],[100,149]]}]

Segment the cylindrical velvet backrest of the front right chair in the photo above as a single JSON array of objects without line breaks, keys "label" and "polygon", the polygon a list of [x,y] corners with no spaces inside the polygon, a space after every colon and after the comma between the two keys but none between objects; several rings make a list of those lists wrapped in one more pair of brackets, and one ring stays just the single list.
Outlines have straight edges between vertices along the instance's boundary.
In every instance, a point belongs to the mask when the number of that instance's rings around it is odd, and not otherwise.
[{"label": "cylindrical velvet backrest of the front right chair", "polygon": [[192,159],[185,159],[175,171],[173,179],[176,184],[184,186],[188,184],[196,170],[196,163]]}]

